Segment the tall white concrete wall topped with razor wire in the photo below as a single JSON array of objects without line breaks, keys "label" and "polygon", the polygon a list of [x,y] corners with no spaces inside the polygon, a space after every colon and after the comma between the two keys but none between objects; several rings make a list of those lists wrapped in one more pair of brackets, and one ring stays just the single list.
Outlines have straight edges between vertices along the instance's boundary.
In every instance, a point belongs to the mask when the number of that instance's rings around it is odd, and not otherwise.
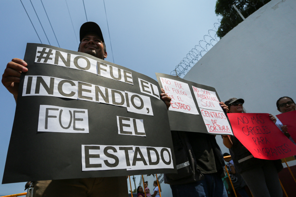
[{"label": "tall white concrete wall topped with razor wire", "polygon": [[279,97],[296,100],[295,67],[296,1],[272,0],[226,34],[184,79],[215,87],[222,101],[243,98],[249,113],[277,115]]}]

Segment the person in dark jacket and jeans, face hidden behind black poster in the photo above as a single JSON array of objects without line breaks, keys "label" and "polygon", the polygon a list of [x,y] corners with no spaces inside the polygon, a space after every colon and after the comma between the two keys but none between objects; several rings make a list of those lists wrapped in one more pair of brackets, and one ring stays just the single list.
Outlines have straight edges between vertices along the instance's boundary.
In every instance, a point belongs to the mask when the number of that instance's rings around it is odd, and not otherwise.
[{"label": "person in dark jacket and jeans, face hidden behind black poster", "polygon": [[[224,110],[227,106],[220,102]],[[227,108],[228,110],[228,108]],[[171,131],[177,174],[165,174],[173,197],[227,197],[225,163],[215,135]]]}]

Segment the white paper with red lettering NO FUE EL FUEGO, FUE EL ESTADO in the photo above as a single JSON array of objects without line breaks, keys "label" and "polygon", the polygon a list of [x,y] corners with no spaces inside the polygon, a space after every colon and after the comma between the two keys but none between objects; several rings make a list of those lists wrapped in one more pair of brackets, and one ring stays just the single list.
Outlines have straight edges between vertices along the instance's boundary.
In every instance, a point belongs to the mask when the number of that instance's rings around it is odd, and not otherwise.
[{"label": "white paper with red lettering NO FUE EL FUEGO, FUE EL ESTADO", "polygon": [[188,84],[163,77],[160,81],[165,93],[172,98],[170,111],[199,114]]}]

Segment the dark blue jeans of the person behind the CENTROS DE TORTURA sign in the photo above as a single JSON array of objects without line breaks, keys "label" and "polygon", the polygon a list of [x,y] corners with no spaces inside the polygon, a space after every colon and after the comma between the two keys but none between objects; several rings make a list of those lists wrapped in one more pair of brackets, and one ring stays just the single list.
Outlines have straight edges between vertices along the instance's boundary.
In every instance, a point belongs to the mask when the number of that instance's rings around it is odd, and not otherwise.
[{"label": "dark blue jeans of the person behind the CENTROS DE TORTURA sign", "polygon": [[227,197],[220,175],[217,173],[203,175],[204,180],[182,185],[170,185],[173,197]]}]

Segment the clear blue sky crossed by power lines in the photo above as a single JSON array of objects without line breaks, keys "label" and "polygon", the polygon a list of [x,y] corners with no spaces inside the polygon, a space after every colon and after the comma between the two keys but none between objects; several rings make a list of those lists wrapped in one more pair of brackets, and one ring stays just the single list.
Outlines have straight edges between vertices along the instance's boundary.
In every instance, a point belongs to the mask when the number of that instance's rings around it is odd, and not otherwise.
[{"label": "clear blue sky crossed by power lines", "polygon": [[[31,0],[50,45],[77,51],[80,26],[86,22],[82,0]],[[108,57],[106,61],[125,66],[156,79],[155,72],[170,74],[186,54],[198,44],[220,17],[215,14],[216,0],[189,1],[113,1],[85,0],[88,21],[102,29]],[[38,35],[49,44],[30,0],[22,0]],[[23,58],[26,43],[40,43],[20,0],[0,1],[0,72],[12,58]],[[73,28],[74,27],[74,28]],[[57,40],[54,36],[57,37]],[[76,36],[75,36],[76,34]],[[0,177],[2,180],[15,101],[0,85]],[[16,160],[16,162],[18,162]],[[21,162],[21,161],[20,161]],[[0,196],[24,191],[24,183],[0,185]]]}]

